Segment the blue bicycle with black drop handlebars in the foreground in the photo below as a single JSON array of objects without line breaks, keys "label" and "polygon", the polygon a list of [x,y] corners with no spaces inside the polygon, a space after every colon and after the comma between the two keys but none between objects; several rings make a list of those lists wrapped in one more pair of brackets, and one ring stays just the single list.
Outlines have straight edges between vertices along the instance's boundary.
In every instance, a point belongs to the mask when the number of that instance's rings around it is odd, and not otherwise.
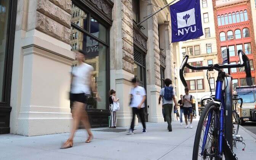
[{"label": "blue bicycle with black drop handlebars in the foreground", "polygon": [[[245,67],[246,72],[246,82],[248,85],[252,85],[251,81],[251,71],[250,71],[250,63],[248,57],[243,53],[242,50],[238,51],[238,55],[240,58],[240,64],[214,64],[209,66],[190,66],[187,64],[189,56],[186,55],[182,61],[180,67],[180,78],[185,86],[187,87],[186,80],[183,75],[184,67],[193,70],[208,70],[214,69],[218,71],[218,78],[216,80],[216,90],[215,97],[213,99],[212,94],[210,97],[210,102],[205,105],[205,109],[202,112],[200,120],[198,122],[197,131],[195,134],[194,148],[192,159],[197,160],[198,157],[202,159],[215,159],[222,160],[223,154],[225,158],[229,159],[237,159],[236,155],[232,151],[229,142],[232,143],[232,136],[229,141],[226,137],[230,137],[232,135],[232,130],[225,131],[225,128],[232,126],[232,120],[226,121],[226,105],[230,106],[232,104],[232,96],[229,96],[228,92],[232,90],[232,82],[231,78],[226,75],[221,69],[227,68],[237,68],[237,67]],[[228,78],[227,78],[228,77]],[[208,79],[208,74],[207,74]],[[208,79],[208,83],[210,86],[210,80]],[[230,85],[231,83],[231,85]],[[229,87],[228,87],[229,86]],[[231,90],[230,90],[231,88]],[[210,88],[211,91],[211,88]],[[225,112],[225,114],[224,114]],[[232,110],[231,110],[232,112]],[[226,121],[229,124],[224,124]],[[227,132],[225,134],[225,132]],[[200,149],[200,150],[199,150]]]}]

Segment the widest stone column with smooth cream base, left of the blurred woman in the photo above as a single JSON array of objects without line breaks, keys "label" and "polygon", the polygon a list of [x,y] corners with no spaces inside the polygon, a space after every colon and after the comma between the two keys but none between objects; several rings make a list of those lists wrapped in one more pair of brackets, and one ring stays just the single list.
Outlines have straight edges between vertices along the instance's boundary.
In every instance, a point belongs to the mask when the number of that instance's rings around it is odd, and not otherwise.
[{"label": "widest stone column with smooth cream base, left of the blurred woman", "polygon": [[71,0],[19,0],[11,84],[11,133],[70,131]]}]

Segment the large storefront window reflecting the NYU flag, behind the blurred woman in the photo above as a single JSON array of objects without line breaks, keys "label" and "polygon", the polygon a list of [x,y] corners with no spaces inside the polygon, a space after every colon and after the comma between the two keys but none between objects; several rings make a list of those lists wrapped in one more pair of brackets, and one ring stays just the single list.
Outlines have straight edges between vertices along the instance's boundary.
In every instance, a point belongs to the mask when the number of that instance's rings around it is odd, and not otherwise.
[{"label": "large storefront window reflecting the NYU flag, behind the blurred woman", "polygon": [[[108,29],[101,24],[90,13],[86,13],[78,6],[74,6],[72,11],[78,11],[80,16],[72,18],[72,33],[74,37],[70,41],[73,50],[83,51],[85,53],[85,63],[93,66],[91,80],[93,86],[91,88],[93,101],[87,105],[88,109],[107,109],[107,93],[108,93],[108,71],[107,71],[107,54],[109,45],[107,43]],[[73,11],[73,12],[74,12]],[[78,26],[77,22],[80,22]],[[90,32],[83,32],[82,29]],[[101,101],[96,101],[96,96],[101,97]]]}]

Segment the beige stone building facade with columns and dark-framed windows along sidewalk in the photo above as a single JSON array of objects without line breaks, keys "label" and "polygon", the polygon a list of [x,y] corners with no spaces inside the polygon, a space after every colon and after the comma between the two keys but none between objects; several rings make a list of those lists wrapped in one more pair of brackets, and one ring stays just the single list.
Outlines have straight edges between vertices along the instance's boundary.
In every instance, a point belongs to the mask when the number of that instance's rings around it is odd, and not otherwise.
[{"label": "beige stone building facade with columns and dark-framed windows along sidewalk", "polygon": [[95,94],[102,98],[87,108],[92,127],[108,126],[110,89],[120,99],[117,125],[130,125],[129,91],[134,76],[147,91],[146,120],[163,122],[160,88],[164,78],[176,81],[169,8],[137,24],[157,6],[165,6],[166,0],[12,2],[8,7],[16,14],[12,17],[16,26],[15,37],[10,37],[13,57],[6,67],[11,76],[4,76],[11,83],[6,86],[9,111],[0,119],[5,121],[2,133],[34,136],[70,130],[70,70],[75,65],[73,51],[78,49],[87,53],[85,61],[94,67]]}]

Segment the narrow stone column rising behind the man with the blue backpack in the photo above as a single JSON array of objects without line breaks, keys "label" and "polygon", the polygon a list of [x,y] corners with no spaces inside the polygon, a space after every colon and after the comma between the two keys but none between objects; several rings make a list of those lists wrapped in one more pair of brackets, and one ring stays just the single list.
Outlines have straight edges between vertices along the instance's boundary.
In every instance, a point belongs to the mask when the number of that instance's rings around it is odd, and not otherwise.
[{"label": "narrow stone column rising behind the man with the blue backpack", "polygon": [[[157,11],[157,8],[148,5],[148,15]],[[158,105],[158,98],[161,89],[160,81],[160,49],[158,43],[158,21],[157,16],[147,20],[147,104],[149,122],[163,122],[162,107]]]}]

